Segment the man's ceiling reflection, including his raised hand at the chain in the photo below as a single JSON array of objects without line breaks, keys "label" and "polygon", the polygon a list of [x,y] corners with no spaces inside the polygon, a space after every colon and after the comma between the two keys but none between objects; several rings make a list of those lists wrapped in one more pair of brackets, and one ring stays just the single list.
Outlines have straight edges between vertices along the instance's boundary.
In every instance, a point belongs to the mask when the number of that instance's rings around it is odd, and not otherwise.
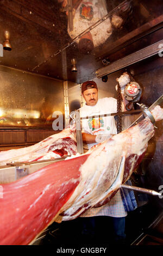
[{"label": "man's ceiling reflection, including his raised hand at the chain", "polygon": [[[70,38],[79,38],[78,48],[84,53],[90,53],[94,47],[104,44],[114,29],[122,27],[125,16],[133,11],[131,1],[123,1],[109,15],[108,9],[111,11],[114,5],[106,3],[105,0],[58,0],[58,2],[62,2],[62,11],[66,11],[68,16],[67,32]],[[79,36],[80,34],[82,35]]]}]

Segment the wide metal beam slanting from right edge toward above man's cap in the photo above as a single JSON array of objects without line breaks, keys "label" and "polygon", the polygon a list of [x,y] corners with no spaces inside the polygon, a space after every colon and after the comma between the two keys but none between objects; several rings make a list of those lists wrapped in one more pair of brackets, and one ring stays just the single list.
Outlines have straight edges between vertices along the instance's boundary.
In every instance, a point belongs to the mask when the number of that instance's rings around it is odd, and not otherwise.
[{"label": "wide metal beam slanting from right edge toward above man's cap", "polygon": [[126,66],[129,66],[131,64],[140,62],[143,59],[147,59],[147,58],[159,53],[159,51],[160,51],[159,45],[160,44],[163,44],[163,40],[155,42],[155,44],[152,44],[152,45],[147,46],[137,52],[134,52],[120,60],[117,60],[114,63],[106,65],[103,68],[98,69],[96,71],[96,76],[98,78],[100,78],[102,76],[111,74],[112,72],[115,72],[122,68],[125,68]]}]

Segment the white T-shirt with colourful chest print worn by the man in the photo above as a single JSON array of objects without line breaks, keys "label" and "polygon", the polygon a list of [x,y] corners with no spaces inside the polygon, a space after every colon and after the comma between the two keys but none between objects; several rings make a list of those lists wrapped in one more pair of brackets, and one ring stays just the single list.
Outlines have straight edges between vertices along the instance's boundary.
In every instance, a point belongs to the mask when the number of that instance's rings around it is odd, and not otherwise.
[{"label": "white T-shirt with colourful chest print worn by the man", "polygon": [[[117,112],[117,100],[113,97],[104,97],[99,99],[95,106],[83,106],[79,109],[80,117],[91,117],[99,115],[98,118],[89,118],[82,120],[82,131],[90,133],[91,135],[97,134],[117,134],[114,116],[100,117],[102,114],[109,114]],[[89,143],[87,147],[90,149],[97,143]]]}]

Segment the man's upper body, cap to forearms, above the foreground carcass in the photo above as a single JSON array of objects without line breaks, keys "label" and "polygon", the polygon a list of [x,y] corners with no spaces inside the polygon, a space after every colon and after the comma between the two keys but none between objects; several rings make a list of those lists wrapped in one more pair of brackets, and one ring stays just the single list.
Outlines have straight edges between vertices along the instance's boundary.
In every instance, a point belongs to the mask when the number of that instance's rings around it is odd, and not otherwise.
[{"label": "man's upper body, cap to forearms, above the foreground carcass", "polygon": [[[82,95],[86,104],[80,108],[81,117],[117,112],[117,100],[113,97],[98,100],[97,84],[94,81],[82,84]],[[83,142],[87,143],[88,149],[117,133],[114,117],[83,119],[82,128]]]}]

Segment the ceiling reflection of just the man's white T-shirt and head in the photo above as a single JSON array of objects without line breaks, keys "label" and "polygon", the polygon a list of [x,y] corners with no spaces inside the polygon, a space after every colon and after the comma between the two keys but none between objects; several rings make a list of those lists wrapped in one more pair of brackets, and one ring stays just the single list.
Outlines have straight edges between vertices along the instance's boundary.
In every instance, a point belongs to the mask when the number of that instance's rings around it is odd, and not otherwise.
[{"label": "ceiling reflection of just the man's white T-shirt and head", "polygon": [[[60,1],[60,0],[59,0]],[[69,9],[68,9],[68,7]],[[68,15],[67,32],[71,39],[76,38],[83,33],[87,28],[94,25],[97,21],[108,14],[105,0],[97,1],[62,1],[62,7],[67,7],[66,14]],[[92,31],[87,32],[77,40],[80,51],[91,52],[93,47],[103,44],[111,35],[111,22],[108,18],[105,25],[99,25]]]}]

